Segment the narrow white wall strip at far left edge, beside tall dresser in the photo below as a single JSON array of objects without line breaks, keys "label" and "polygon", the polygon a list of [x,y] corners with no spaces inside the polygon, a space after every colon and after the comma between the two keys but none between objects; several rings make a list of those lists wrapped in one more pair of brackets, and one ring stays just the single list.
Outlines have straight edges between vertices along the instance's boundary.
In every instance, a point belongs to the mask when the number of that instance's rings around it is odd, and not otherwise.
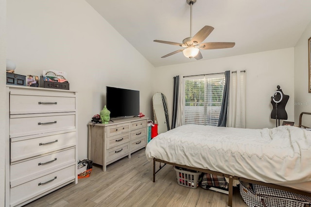
[{"label": "narrow white wall strip at far left edge, beside tall dresser", "polygon": [[5,21],[6,21],[6,0],[0,0],[0,206],[4,206],[4,155],[5,155],[5,139],[6,139],[6,51],[5,51]]}]

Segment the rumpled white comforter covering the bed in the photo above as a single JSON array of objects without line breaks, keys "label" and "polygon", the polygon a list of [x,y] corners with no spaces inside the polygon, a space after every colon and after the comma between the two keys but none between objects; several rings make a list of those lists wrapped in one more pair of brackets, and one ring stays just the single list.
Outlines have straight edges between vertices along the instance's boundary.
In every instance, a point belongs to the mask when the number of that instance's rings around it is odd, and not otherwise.
[{"label": "rumpled white comforter covering the bed", "polygon": [[146,156],[267,183],[311,181],[311,131],[298,127],[184,125],[153,138]]}]

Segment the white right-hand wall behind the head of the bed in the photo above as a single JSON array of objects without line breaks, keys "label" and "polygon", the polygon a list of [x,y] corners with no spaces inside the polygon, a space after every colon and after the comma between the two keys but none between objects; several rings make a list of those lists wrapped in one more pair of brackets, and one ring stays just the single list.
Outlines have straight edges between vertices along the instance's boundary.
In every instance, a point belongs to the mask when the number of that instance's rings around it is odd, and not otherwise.
[{"label": "white right-hand wall behind the head of the bed", "polygon": [[[301,112],[311,112],[309,85],[308,39],[311,37],[311,22],[295,46],[295,122]],[[307,117],[307,116],[306,116]]]}]

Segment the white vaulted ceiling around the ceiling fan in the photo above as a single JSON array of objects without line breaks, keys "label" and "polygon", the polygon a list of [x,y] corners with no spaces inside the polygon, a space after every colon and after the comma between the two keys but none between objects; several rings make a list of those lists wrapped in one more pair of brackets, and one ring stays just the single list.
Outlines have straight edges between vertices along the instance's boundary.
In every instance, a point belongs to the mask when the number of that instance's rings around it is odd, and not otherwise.
[{"label": "white vaulted ceiling around the ceiling fan", "polygon": [[[197,61],[182,52],[161,58],[181,48],[153,41],[182,43],[190,36],[186,0],[86,1],[155,67]],[[236,43],[201,50],[199,61],[294,47],[310,22],[311,0],[196,0],[192,6],[192,36],[208,25],[215,29],[203,42]]]}]

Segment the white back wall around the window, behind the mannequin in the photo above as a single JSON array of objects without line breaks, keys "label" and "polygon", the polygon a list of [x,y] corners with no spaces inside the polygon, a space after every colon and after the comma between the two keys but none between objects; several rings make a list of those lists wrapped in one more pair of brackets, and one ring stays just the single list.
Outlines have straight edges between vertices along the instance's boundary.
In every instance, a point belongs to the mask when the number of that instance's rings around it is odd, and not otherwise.
[{"label": "white back wall around the window, behind the mannequin", "polygon": [[272,111],[270,101],[277,85],[281,86],[284,94],[290,96],[286,111],[288,121],[294,121],[294,48],[190,62],[155,68],[154,92],[161,92],[167,97],[170,119],[172,119],[174,76],[246,70],[246,127],[276,126],[275,119],[270,119]]}]

